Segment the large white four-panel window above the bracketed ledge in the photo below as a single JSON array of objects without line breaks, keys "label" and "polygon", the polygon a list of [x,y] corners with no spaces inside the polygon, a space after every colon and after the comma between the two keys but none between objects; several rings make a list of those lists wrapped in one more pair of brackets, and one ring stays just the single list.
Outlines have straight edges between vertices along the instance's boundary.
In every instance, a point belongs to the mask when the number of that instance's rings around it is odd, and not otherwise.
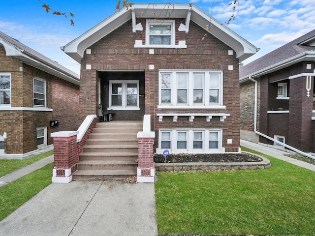
[{"label": "large white four-panel window above the bracketed ledge", "polygon": [[210,108],[223,105],[222,71],[159,72],[159,106]]}]

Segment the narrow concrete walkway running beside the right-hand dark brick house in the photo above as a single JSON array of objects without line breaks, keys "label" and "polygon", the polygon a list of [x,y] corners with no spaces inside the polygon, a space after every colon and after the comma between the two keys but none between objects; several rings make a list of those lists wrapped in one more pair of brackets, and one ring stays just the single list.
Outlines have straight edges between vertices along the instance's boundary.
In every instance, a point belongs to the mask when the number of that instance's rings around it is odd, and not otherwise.
[{"label": "narrow concrete walkway running beside the right-hand dark brick house", "polygon": [[275,149],[275,148],[269,148],[269,147],[255,144],[255,143],[245,141],[245,140],[241,140],[241,146],[246,147],[246,148],[250,148],[252,150],[259,151],[259,152],[267,154],[269,156],[273,156],[277,159],[289,162],[293,165],[300,166],[300,167],[303,167],[303,168],[311,170],[311,171],[315,171],[315,165],[312,165],[310,163],[285,156],[286,154],[289,154],[285,151]]}]

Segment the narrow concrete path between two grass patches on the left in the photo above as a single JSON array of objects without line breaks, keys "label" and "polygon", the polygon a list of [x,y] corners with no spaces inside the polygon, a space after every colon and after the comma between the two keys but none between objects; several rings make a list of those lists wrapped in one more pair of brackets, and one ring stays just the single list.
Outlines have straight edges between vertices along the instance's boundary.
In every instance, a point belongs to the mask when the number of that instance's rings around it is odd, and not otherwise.
[{"label": "narrow concrete path between two grass patches on the left", "polygon": [[48,156],[44,159],[41,159],[39,161],[36,161],[32,163],[31,165],[28,165],[26,167],[23,167],[22,169],[19,169],[17,171],[14,171],[10,174],[7,174],[6,176],[0,177],[0,187],[17,180],[23,176],[26,176],[33,171],[36,171],[44,166],[46,166],[49,163],[52,163],[54,161],[54,155]]}]

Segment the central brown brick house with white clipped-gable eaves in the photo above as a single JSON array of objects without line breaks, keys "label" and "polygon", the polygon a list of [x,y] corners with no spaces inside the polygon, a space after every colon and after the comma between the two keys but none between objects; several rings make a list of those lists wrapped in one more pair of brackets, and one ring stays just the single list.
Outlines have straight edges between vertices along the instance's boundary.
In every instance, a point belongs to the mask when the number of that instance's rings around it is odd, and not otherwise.
[{"label": "central brown brick house with white clipped-gable eaves", "polygon": [[257,48],[195,5],[132,4],[62,50],[81,63],[81,122],[102,104],[151,115],[158,153],[240,151],[239,62]]}]

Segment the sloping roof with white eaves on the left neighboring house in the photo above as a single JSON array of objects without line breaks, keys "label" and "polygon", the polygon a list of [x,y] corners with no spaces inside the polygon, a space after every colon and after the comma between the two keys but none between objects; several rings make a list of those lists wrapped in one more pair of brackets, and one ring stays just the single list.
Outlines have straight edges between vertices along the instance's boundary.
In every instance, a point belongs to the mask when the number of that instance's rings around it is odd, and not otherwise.
[{"label": "sloping roof with white eaves on the left neighboring house", "polygon": [[1,31],[0,44],[3,45],[6,56],[11,56],[15,59],[19,59],[28,65],[31,65],[49,74],[55,75],[75,85],[80,84],[80,76],[78,74],[63,67],[58,62],[36,52],[32,48],[24,45],[23,43],[20,43],[18,40],[11,38]]}]

